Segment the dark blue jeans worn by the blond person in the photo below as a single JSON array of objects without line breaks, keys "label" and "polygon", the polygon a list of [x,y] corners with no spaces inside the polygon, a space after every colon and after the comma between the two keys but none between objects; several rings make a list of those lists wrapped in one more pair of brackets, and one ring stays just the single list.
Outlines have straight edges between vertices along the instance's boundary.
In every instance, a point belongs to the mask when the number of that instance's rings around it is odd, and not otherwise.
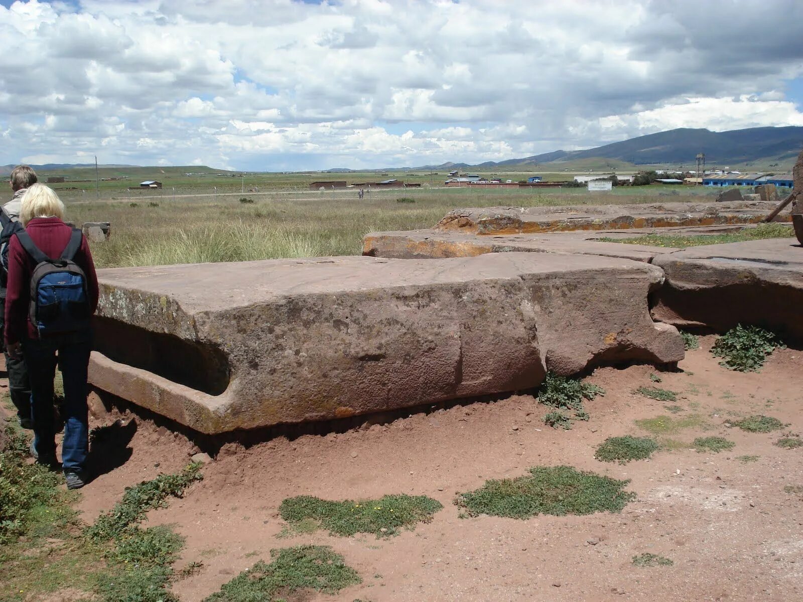
[{"label": "dark blue jeans worn by the blond person", "polygon": [[92,351],[90,332],[22,341],[22,354],[31,379],[31,414],[34,446],[40,458],[55,454],[53,378],[56,353],[64,381],[64,439],[61,458],[64,470],[84,470],[89,449],[87,369]]}]

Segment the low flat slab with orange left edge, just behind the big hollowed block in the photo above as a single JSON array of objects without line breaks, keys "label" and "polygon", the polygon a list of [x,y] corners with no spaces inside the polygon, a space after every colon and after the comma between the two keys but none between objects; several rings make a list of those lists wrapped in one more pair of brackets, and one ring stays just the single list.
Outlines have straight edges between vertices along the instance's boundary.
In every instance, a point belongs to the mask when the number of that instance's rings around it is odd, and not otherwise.
[{"label": "low flat slab with orange left edge, just behind the big hollowed block", "polygon": [[662,246],[630,245],[596,240],[602,236],[632,238],[633,230],[611,233],[560,232],[556,234],[509,234],[475,236],[463,232],[410,230],[366,234],[363,254],[370,257],[419,259],[475,257],[486,253],[576,253],[650,262],[656,255],[676,250]]}]

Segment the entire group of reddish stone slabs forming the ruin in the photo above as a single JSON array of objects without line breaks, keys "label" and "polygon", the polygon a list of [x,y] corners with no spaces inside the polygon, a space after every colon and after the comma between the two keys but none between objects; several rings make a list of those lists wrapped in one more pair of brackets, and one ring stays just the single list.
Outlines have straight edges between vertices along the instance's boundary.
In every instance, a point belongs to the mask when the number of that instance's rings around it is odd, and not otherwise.
[{"label": "entire group of reddish stone slabs forming the ruin", "polygon": [[369,234],[362,257],[99,270],[90,381],[214,435],[524,390],[547,371],[671,365],[680,326],[803,340],[793,238],[600,240],[741,230],[775,205],[461,209]]}]

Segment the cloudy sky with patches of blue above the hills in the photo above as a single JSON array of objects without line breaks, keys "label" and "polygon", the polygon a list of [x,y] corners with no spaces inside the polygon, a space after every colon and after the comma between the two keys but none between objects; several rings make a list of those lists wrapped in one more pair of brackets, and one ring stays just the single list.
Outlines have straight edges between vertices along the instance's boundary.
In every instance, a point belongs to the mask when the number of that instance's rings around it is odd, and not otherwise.
[{"label": "cloudy sky with patches of blue above the hills", "polygon": [[803,125],[801,0],[0,0],[0,165],[500,161]]}]

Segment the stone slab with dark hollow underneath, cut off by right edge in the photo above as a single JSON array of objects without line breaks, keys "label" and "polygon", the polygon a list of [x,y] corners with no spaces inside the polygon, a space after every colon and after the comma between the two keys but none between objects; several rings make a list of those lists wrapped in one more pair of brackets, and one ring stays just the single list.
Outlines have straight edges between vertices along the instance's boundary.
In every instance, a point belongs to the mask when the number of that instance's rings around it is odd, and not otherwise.
[{"label": "stone slab with dark hollow underneath, cut off by right edge", "polygon": [[654,319],[720,332],[756,324],[803,340],[803,246],[794,238],[697,246],[653,263],[666,273],[651,301]]}]

